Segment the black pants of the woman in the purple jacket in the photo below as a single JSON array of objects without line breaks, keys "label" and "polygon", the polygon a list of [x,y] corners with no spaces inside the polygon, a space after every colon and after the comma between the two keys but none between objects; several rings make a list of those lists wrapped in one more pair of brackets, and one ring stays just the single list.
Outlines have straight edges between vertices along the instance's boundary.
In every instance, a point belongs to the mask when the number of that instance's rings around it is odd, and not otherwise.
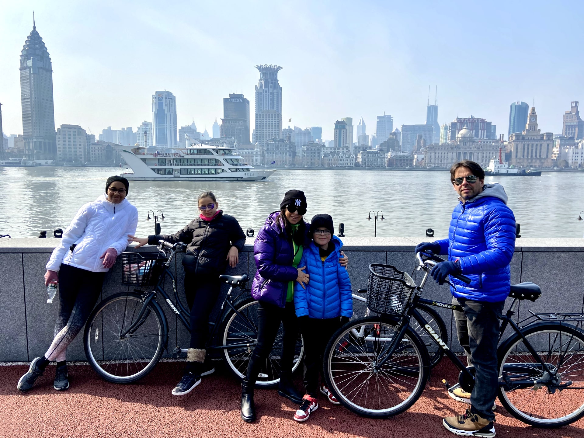
[{"label": "black pants of the woman in the purple jacket", "polygon": [[275,304],[259,302],[258,305],[258,345],[249,359],[246,379],[255,382],[262,364],[272,351],[274,340],[283,324],[282,351],[280,355],[280,378],[290,378],[294,366],[294,349],[298,339],[298,322],[294,303],[286,303],[285,308]]}]

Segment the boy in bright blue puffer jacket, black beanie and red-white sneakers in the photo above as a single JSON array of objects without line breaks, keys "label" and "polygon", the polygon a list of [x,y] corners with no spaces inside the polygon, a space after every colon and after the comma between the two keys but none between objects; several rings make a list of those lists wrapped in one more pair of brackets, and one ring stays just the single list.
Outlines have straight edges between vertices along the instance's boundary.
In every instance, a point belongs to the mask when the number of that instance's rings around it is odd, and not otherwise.
[{"label": "boy in bright blue puffer jacket, black beanie and red-white sneakers", "polygon": [[333,234],[332,217],[317,214],[310,224],[312,242],[305,246],[298,266],[310,276],[306,288],[300,283],[294,288],[294,307],[304,339],[304,388],[306,395],[294,419],[303,422],[318,408],[318,376],[322,374],[320,391],[331,403],[335,396],[324,384],[323,354],[335,331],[353,315],[351,282],[345,267],[339,265],[343,242]]}]

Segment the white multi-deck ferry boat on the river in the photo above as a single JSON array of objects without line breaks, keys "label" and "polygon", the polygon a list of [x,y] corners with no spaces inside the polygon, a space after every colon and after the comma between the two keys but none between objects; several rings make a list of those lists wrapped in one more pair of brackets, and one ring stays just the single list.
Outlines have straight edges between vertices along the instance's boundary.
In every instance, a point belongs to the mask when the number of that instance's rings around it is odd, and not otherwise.
[{"label": "white multi-deck ferry boat on the river", "polygon": [[131,180],[260,181],[276,172],[245,164],[237,149],[229,147],[116,147],[133,171],[121,176]]}]

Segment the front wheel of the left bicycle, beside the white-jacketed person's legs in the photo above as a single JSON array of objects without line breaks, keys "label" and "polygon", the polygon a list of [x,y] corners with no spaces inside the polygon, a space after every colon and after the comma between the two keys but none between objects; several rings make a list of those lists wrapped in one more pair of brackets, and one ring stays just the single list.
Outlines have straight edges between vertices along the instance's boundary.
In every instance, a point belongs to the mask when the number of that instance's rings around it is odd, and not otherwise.
[{"label": "front wheel of the left bicycle, beside the white-jacketed person's legs", "polygon": [[[130,383],[150,373],[164,349],[161,314],[153,303],[137,320],[142,296],[136,293],[115,294],[93,310],[84,332],[85,354],[92,368],[113,383]],[[137,322],[126,335],[122,332]]]}]

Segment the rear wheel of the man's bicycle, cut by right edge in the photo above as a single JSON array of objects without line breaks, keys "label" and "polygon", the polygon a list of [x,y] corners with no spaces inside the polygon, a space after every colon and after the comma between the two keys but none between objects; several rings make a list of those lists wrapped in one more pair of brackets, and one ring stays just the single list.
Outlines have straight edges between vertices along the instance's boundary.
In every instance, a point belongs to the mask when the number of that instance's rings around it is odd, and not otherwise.
[{"label": "rear wheel of the man's bicycle, cut by right edge", "polygon": [[[555,385],[552,383],[520,334],[512,335],[497,353],[499,381],[506,383],[499,387],[499,399],[505,409],[515,418],[536,427],[561,427],[582,418],[583,332],[559,322],[543,322],[527,326],[522,333],[552,373],[558,373],[558,381]],[[527,384],[520,384],[520,381],[527,381]]]}]

